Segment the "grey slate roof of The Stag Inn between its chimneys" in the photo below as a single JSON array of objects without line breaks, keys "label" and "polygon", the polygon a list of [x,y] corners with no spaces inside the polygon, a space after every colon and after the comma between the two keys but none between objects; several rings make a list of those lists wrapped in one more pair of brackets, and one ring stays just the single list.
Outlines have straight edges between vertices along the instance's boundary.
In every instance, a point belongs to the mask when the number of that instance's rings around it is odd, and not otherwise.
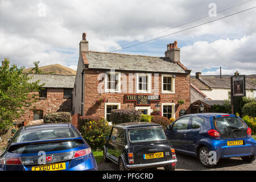
[{"label": "grey slate roof of The Stag Inn between its chimneys", "polygon": [[[85,57],[86,56],[86,57]],[[125,55],[109,52],[86,52],[83,56],[88,68],[123,71],[187,73],[183,65],[173,63],[168,57]]]}]

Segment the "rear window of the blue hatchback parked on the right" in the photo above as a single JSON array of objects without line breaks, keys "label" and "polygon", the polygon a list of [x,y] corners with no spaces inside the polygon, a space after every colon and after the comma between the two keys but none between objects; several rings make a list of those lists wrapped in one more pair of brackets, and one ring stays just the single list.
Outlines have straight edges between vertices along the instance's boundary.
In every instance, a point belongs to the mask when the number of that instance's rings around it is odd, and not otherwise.
[{"label": "rear window of the blue hatchback parked on the right", "polygon": [[237,117],[217,117],[213,119],[214,127],[220,131],[222,137],[245,137],[247,126]]}]

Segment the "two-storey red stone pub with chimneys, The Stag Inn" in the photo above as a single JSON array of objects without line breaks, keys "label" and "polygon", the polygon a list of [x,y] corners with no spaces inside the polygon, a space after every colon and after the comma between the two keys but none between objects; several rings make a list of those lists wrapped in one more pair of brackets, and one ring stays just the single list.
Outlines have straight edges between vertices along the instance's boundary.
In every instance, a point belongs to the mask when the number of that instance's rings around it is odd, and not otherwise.
[{"label": "two-storey red stone pub with chimneys, The Stag Inn", "polygon": [[167,45],[165,57],[125,55],[89,51],[84,34],[72,112],[108,119],[112,109],[150,114],[159,103],[162,115],[178,118],[181,109],[190,113],[190,72],[180,63],[177,42]]}]

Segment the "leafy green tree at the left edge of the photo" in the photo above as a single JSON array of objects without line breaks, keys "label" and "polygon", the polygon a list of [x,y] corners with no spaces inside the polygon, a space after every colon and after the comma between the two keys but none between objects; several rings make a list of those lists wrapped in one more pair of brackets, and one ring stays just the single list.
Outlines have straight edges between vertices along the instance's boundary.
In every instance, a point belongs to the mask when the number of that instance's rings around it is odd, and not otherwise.
[{"label": "leafy green tree at the left edge of the photo", "polygon": [[24,110],[29,109],[36,102],[39,92],[36,82],[28,82],[31,77],[23,74],[24,67],[18,68],[15,64],[9,67],[9,59],[2,61],[0,67],[0,129],[7,129],[15,119],[18,119]]}]

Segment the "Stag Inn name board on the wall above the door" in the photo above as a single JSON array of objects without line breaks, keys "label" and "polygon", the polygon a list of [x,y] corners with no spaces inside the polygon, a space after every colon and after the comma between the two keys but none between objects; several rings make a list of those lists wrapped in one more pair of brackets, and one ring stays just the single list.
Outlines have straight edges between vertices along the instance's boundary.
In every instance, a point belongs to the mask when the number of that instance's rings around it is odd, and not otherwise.
[{"label": "Stag Inn name board on the wall above the door", "polygon": [[160,101],[160,96],[150,94],[125,94],[125,101],[135,101],[136,105],[150,105],[151,101]]}]

